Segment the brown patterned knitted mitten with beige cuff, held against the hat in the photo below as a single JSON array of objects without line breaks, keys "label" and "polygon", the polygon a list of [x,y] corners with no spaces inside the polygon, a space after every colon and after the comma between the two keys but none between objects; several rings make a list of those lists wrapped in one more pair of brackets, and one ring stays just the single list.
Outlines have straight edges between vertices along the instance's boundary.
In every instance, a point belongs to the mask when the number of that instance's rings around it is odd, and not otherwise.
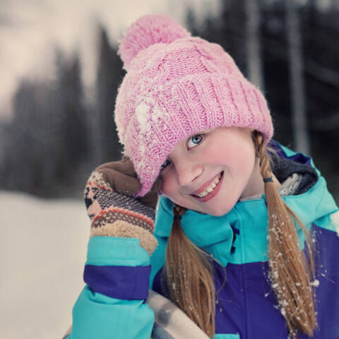
[{"label": "brown patterned knitted mitten with beige cuff, held against the hat", "polygon": [[152,254],[158,179],[148,194],[133,198],[141,184],[129,157],[97,167],[85,186],[85,204],[91,220],[90,236],[131,237]]}]

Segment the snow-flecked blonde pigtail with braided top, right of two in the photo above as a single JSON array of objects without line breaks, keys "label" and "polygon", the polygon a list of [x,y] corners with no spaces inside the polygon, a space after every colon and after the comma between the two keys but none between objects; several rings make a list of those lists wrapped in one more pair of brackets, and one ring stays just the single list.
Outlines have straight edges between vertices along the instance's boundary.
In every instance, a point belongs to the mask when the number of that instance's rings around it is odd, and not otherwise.
[{"label": "snow-flecked blonde pigtail with braided top, right of two", "polygon": [[[266,144],[261,133],[255,134],[263,178],[272,177]],[[297,331],[311,336],[317,326],[314,310],[314,261],[311,239],[306,227],[285,204],[273,182],[265,182],[268,209],[268,266],[272,288],[278,299],[281,314],[293,338]],[[304,252],[299,249],[296,226],[299,225],[307,242],[309,266]]]}]

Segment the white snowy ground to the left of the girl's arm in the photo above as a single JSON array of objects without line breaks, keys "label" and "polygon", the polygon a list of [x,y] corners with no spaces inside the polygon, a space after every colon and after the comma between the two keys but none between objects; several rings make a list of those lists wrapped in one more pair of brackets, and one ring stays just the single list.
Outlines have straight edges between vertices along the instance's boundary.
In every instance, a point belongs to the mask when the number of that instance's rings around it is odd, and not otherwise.
[{"label": "white snowy ground to the left of the girl's arm", "polygon": [[85,204],[0,191],[0,206],[0,338],[61,338],[84,285]]}]

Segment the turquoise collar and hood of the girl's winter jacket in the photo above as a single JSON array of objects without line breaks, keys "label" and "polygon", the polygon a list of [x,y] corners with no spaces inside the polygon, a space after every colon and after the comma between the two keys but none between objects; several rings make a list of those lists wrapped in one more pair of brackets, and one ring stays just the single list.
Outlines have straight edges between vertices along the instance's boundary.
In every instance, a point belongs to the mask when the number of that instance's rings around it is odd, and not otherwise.
[{"label": "turquoise collar and hood of the girl's winter jacket", "polygon": [[[307,230],[310,230],[314,222],[320,227],[328,223],[329,215],[338,210],[338,207],[311,157],[294,153],[277,142],[270,146],[278,153],[272,168],[280,182],[292,174],[299,174],[295,194],[282,196],[287,206],[296,213]],[[155,218],[156,237],[169,237],[173,207],[169,198],[160,197]],[[181,225],[186,236],[222,266],[227,263],[241,264],[268,259],[268,216],[264,194],[259,198],[238,201],[229,213],[220,217],[186,210],[182,215]],[[303,248],[304,234],[299,226],[297,232]]]}]

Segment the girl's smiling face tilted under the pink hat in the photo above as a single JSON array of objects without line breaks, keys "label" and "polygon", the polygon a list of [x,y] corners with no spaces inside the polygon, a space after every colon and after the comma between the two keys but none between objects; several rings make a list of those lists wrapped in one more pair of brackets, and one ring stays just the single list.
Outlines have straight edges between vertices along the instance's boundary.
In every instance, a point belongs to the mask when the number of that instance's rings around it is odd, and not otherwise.
[{"label": "girl's smiling face tilted under the pink hat", "polygon": [[162,193],[180,206],[220,216],[239,198],[263,193],[249,129],[220,127],[181,141],[163,169]]}]

